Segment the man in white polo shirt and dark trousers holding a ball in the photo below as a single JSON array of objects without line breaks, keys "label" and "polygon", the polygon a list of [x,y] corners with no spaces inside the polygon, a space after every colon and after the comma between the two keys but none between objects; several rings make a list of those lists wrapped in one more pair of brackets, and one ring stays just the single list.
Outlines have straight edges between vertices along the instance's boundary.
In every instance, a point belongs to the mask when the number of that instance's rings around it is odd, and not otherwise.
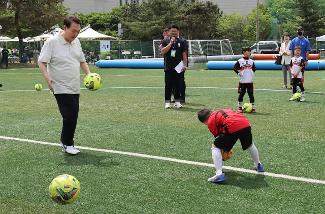
[{"label": "man in white polo shirt and dark trousers holding a ball", "polygon": [[68,16],[63,24],[63,31],[45,42],[38,65],[63,117],[62,151],[76,155],[80,152],[73,140],[79,113],[80,68],[85,74],[90,71],[77,39],[81,20]]}]

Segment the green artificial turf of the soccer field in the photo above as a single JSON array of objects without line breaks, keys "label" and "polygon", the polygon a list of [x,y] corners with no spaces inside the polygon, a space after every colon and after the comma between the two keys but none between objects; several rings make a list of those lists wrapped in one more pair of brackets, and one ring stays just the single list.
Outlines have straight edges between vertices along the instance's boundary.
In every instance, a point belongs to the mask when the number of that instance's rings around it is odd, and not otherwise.
[{"label": "green artificial turf of the soccer field", "polygon": [[[162,70],[91,71],[102,76],[103,86],[81,90],[76,145],[213,163],[213,136],[197,112],[237,109],[233,71],[186,71],[182,109],[164,109]],[[61,115],[39,69],[0,74],[0,136],[59,143]],[[33,90],[36,83],[43,90]],[[225,169],[226,182],[215,185],[207,181],[211,166],[86,149],[69,156],[58,146],[0,139],[0,213],[325,213],[324,83],[323,71],[306,71],[306,91],[319,93],[290,102],[290,89],[281,89],[282,71],[256,71],[257,113],[245,114],[266,172],[323,184]],[[253,167],[240,143],[223,164]],[[80,181],[72,204],[48,196],[60,174]]]}]

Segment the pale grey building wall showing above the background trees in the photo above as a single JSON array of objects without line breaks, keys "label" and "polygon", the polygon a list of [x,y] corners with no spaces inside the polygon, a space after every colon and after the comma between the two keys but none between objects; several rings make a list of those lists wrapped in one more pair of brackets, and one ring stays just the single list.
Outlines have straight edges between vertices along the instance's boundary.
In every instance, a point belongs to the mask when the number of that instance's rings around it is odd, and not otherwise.
[{"label": "pale grey building wall showing above the background trees", "polygon": [[[124,5],[132,1],[141,4],[142,0],[64,0],[63,5],[70,8],[70,13],[110,12],[112,8]],[[191,0],[187,0],[190,2]],[[200,0],[199,0],[200,1]],[[205,1],[205,0],[203,0]],[[223,14],[250,13],[257,6],[257,0],[212,0],[219,5]],[[266,0],[259,0],[260,4],[266,4]]]}]

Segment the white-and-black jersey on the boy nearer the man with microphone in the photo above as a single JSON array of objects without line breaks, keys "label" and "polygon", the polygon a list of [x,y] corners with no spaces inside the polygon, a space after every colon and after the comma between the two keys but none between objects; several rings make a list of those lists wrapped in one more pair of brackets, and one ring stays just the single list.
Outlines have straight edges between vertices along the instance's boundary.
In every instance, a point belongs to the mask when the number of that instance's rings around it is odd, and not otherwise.
[{"label": "white-and-black jersey on the boy nearer the man with microphone", "polygon": [[233,69],[237,74],[242,73],[242,76],[239,78],[240,83],[254,82],[254,72],[256,71],[256,67],[252,59],[248,57],[238,59]]}]

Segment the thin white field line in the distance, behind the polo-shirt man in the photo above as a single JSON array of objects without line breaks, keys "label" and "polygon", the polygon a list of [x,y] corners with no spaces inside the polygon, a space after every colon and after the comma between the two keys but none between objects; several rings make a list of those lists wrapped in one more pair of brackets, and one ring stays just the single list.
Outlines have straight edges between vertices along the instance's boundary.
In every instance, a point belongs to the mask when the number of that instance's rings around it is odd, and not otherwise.
[{"label": "thin white field line in the distance, behind the polo-shirt man", "polygon": [[[165,88],[164,86],[148,86],[148,87],[101,87],[101,89],[143,89],[143,88]],[[195,87],[195,86],[186,86],[186,88],[199,88],[199,89],[238,89],[236,87]],[[86,89],[86,88],[80,88],[80,89]],[[42,89],[42,90],[50,90],[50,89]],[[280,89],[258,89],[254,88],[254,90],[266,90],[266,91],[282,91],[282,92],[288,92],[291,90],[280,90]],[[16,91],[38,91],[38,90],[0,90],[1,92],[16,92]],[[317,92],[317,91],[305,91],[305,93],[308,94],[325,94],[325,92]]]}]

